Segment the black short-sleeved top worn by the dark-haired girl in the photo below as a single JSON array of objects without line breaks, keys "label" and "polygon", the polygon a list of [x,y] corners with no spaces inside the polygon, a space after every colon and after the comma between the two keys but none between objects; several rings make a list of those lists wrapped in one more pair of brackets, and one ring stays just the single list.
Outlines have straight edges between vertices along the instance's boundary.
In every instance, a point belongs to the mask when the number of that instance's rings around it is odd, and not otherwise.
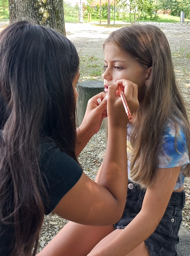
[{"label": "black short-sleeved top worn by the dark-haired girl", "polygon": [[[45,153],[40,161],[40,171],[47,196],[42,196],[45,214],[49,214],[61,198],[76,184],[82,175],[81,166],[53,143],[43,146]],[[13,238],[13,225],[0,223],[0,256],[9,256]]]}]

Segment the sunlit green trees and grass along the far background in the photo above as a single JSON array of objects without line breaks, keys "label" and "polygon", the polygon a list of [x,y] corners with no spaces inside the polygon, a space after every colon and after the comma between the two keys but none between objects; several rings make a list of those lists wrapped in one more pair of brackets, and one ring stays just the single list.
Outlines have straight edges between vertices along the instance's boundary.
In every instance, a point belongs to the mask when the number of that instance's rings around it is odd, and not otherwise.
[{"label": "sunlit green trees and grass along the far background", "polygon": [[[92,0],[88,0],[89,4]],[[157,14],[158,9],[171,10],[170,15]],[[186,21],[190,21],[190,0],[116,0],[115,20],[117,21],[159,21],[179,22],[181,11]],[[77,22],[79,6],[64,1],[65,22]],[[84,5],[84,20],[99,20],[100,6]],[[101,20],[107,20],[108,3],[101,6]],[[8,19],[8,0],[0,0],[0,19]],[[110,5],[110,19],[114,20],[114,5]]]}]

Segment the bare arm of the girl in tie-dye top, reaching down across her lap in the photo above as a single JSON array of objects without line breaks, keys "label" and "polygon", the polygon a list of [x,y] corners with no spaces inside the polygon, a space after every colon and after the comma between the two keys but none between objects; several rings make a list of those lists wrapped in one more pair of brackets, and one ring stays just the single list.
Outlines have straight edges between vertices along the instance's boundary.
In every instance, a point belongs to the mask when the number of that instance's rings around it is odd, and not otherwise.
[{"label": "bare arm of the girl in tie-dye top, reaching down across her lap", "polygon": [[97,244],[88,256],[124,256],[145,241],[164,215],[180,169],[159,168],[157,182],[147,189],[139,214],[106,246]]}]

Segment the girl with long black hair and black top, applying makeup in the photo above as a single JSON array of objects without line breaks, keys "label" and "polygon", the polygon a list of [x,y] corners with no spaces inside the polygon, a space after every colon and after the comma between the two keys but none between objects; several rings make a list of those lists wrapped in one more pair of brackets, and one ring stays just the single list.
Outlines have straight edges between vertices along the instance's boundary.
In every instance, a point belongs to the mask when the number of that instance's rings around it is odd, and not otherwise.
[{"label": "girl with long black hair and black top, applying makeup", "polygon": [[[122,215],[128,119],[118,85],[110,86],[107,100],[105,92],[89,100],[76,129],[78,78],[77,51],[62,34],[26,20],[0,33],[0,256],[35,255],[44,213],[87,225],[110,225]],[[137,95],[129,82],[132,112]],[[96,183],[77,155],[107,112],[111,130]]]}]

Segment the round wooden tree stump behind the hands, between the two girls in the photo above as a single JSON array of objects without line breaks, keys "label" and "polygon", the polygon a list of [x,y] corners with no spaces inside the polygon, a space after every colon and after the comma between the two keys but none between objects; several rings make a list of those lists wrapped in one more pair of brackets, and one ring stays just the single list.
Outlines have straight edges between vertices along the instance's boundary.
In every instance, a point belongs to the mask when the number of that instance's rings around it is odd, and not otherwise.
[{"label": "round wooden tree stump behind the hands, between the two girls", "polygon": [[102,81],[84,81],[78,83],[77,91],[79,95],[76,103],[78,126],[80,126],[84,118],[88,100],[103,90],[104,82]]}]

